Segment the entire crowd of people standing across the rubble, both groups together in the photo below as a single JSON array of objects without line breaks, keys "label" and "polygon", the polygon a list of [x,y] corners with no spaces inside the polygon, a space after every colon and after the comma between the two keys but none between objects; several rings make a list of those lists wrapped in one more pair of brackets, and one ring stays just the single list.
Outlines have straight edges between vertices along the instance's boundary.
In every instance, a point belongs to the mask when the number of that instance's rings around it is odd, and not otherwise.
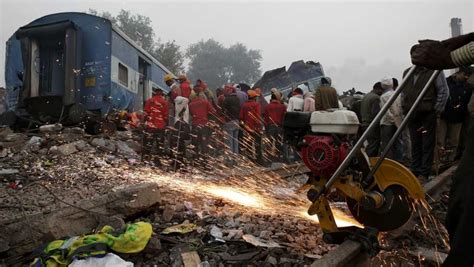
[{"label": "entire crowd of people standing across the rubble, both groups together", "polygon": [[[432,73],[433,70],[418,67],[406,81],[408,88],[367,138],[365,151],[369,157],[379,156],[387,147]],[[408,121],[407,129],[388,151],[388,158],[410,167],[420,182],[426,182],[440,166],[452,164],[462,153],[472,94],[472,85],[467,82],[470,75],[469,67],[459,69],[447,79],[440,72]],[[188,144],[192,145],[190,162],[204,169],[209,169],[210,159],[217,155],[225,155],[229,166],[235,164],[238,155],[262,166],[290,162],[299,157],[283,140],[285,113],[342,107],[328,78],[321,79],[314,93],[296,87],[284,96],[273,88],[269,102],[259,88],[242,90],[240,84],[227,84],[214,94],[200,79],[194,86],[185,75],[168,74],[164,80],[169,92],[153,88],[153,97],[145,104],[144,154],[157,165],[161,165],[163,158],[171,157],[174,170],[186,162]],[[395,90],[398,80],[383,78],[369,93],[354,97],[348,108],[360,119],[360,133],[368,128]],[[165,152],[165,143],[171,155]]]}]

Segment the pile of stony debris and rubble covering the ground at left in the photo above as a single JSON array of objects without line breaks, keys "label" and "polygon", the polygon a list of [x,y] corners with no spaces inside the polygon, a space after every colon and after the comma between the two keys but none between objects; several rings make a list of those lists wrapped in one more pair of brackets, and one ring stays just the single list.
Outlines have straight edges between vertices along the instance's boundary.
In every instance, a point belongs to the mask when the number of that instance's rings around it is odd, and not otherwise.
[{"label": "pile of stony debris and rubble covering the ground at left", "polygon": [[[322,241],[313,219],[199,191],[226,183],[225,174],[168,173],[141,162],[140,152],[140,136],[129,131],[91,136],[61,125],[42,126],[35,134],[0,129],[2,236],[23,232],[0,239],[1,257],[25,264],[28,252],[45,241],[136,220],[151,222],[156,233],[153,249],[120,255],[137,264],[304,266],[334,247]],[[259,177],[271,178],[261,172]],[[238,187],[257,177],[231,180]],[[297,180],[280,186],[294,190],[301,185]],[[298,203],[302,211],[307,207]]]}]

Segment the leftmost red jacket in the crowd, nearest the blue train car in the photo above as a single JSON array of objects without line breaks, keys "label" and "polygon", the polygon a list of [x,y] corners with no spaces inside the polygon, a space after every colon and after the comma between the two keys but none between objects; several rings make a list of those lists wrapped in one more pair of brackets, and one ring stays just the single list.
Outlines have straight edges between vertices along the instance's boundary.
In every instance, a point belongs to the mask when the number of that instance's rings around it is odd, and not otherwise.
[{"label": "leftmost red jacket in the crowd, nearest the blue train car", "polygon": [[168,101],[155,95],[145,103],[146,128],[164,129],[168,121]]}]

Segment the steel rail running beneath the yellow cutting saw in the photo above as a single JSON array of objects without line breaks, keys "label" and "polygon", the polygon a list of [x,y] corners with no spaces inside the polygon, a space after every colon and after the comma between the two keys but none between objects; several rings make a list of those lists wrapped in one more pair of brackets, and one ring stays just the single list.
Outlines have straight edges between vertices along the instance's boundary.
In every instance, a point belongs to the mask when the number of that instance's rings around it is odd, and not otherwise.
[{"label": "steel rail running beneath the yellow cutting saw", "polygon": [[[424,184],[423,189],[428,198],[437,199],[439,194],[445,188],[446,184],[454,174],[457,165],[450,167],[434,179]],[[426,214],[424,210],[421,214]],[[401,228],[389,233],[389,238],[397,238],[413,229],[415,220],[420,216],[419,213],[413,213],[410,220]],[[442,254],[442,253],[441,253]],[[437,256],[438,261],[444,260],[444,255]],[[364,253],[362,245],[353,240],[346,240],[336,249],[325,254],[322,258],[316,260],[312,267],[342,267],[342,266],[370,266],[370,258]]]}]

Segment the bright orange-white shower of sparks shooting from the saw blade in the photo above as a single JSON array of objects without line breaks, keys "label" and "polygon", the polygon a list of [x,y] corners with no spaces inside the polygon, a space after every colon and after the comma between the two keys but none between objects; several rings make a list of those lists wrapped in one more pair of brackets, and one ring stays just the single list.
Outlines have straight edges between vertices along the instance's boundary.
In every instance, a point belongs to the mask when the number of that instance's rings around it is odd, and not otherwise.
[{"label": "bright orange-white shower of sparks shooting from the saw blade", "polygon": [[[174,188],[194,197],[211,197],[222,199],[245,209],[247,212],[260,214],[280,214],[301,218],[318,223],[317,216],[306,212],[310,202],[305,194],[296,193],[288,188],[288,182],[280,177],[259,174],[256,177],[229,177],[226,179],[204,179],[199,176],[182,177],[180,175],[152,175],[160,185]],[[350,215],[332,207],[339,227],[363,227]]]}]

